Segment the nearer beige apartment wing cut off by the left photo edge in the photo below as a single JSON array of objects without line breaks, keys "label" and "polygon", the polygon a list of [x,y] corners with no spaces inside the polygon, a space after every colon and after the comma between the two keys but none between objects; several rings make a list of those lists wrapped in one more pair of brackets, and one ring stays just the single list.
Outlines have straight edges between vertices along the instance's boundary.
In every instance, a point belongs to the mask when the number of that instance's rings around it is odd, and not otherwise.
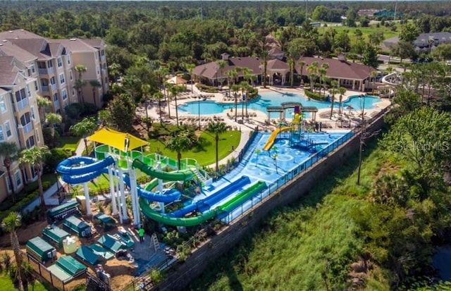
[{"label": "nearer beige apartment wing cut off by the left photo edge", "polygon": [[[30,76],[32,66],[13,56],[0,56],[0,68],[0,142],[15,142],[19,149],[42,146],[44,138],[36,103],[37,78]],[[16,161],[11,166],[9,180],[3,159],[0,157],[0,202],[13,191],[21,190],[27,181],[37,178],[34,168],[20,168]]]}]

